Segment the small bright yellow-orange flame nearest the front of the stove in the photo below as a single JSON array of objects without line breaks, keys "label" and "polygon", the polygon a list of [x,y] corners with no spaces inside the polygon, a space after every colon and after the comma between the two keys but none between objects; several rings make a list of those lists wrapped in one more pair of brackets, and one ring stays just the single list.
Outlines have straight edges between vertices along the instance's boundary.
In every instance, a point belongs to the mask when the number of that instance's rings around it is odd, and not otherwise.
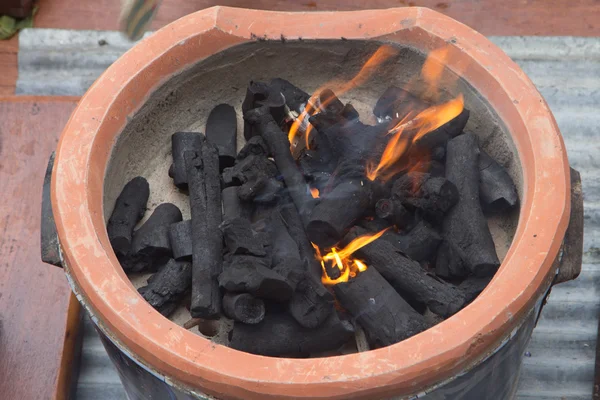
[{"label": "small bright yellow-orange flame nearest the front of the stove", "polygon": [[[323,276],[321,281],[324,285],[337,285],[341,282],[348,282],[350,278],[354,278],[360,272],[366,271],[367,265],[360,260],[354,259],[352,254],[360,249],[368,245],[369,243],[374,242],[379,239],[388,229],[388,227],[380,232],[375,234],[366,234],[359,236],[348,243],[344,248],[333,247],[329,253],[321,256],[321,252],[319,248],[313,243],[313,247],[316,250],[317,260],[321,261],[321,268],[323,269]],[[330,262],[331,265],[336,266],[341,274],[338,278],[332,279],[327,274],[327,269],[325,267],[325,262]]]}]

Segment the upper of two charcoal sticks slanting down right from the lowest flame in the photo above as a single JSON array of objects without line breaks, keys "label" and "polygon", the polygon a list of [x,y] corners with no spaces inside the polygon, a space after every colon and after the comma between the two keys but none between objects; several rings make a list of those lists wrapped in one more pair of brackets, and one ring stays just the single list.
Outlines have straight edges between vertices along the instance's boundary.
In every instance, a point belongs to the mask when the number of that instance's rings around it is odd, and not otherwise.
[{"label": "upper of two charcoal sticks slanting down right from the lowest flame", "polygon": [[[354,227],[344,238],[349,243],[368,231]],[[358,249],[356,256],[377,271],[403,296],[412,297],[431,311],[449,317],[465,305],[465,298],[454,285],[440,281],[427,273],[419,263],[397,250],[381,238]]]}]

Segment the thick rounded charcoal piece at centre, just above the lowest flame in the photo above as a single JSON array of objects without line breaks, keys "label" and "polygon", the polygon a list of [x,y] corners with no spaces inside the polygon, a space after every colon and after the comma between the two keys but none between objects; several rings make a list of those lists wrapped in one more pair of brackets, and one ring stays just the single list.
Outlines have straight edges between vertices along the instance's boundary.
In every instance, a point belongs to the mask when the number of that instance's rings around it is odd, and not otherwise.
[{"label": "thick rounded charcoal piece at centre, just above the lowest flame", "polygon": [[320,198],[306,225],[311,242],[329,248],[339,242],[371,201],[369,181],[349,180]]}]

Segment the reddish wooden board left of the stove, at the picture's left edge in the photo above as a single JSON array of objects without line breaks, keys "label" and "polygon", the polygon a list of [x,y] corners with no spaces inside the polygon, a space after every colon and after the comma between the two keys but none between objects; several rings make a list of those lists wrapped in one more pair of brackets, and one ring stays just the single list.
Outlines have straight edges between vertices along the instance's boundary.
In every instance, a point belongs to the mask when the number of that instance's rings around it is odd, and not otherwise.
[{"label": "reddish wooden board left of the stove, at the picture's left edge", "polygon": [[63,399],[79,303],[61,268],[40,260],[50,152],[77,98],[0,97],[0,397]]}]

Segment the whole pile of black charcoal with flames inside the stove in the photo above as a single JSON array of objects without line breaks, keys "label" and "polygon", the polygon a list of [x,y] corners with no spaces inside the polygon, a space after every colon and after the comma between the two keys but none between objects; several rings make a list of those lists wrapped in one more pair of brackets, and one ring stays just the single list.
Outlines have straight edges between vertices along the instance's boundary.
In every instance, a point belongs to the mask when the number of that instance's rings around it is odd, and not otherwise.
[{"label": "whole pile of black charcoal with flames inside the stove", "polygon": [[372,83],[378,68],[306,87],[261,72],[170,132],[168,171],[124,185],[107,225],[157,312],[234,349],[318,357],[394,345],[485,289],[496,221],[519,204],[479,139],[486,111],[462,86]]}]

